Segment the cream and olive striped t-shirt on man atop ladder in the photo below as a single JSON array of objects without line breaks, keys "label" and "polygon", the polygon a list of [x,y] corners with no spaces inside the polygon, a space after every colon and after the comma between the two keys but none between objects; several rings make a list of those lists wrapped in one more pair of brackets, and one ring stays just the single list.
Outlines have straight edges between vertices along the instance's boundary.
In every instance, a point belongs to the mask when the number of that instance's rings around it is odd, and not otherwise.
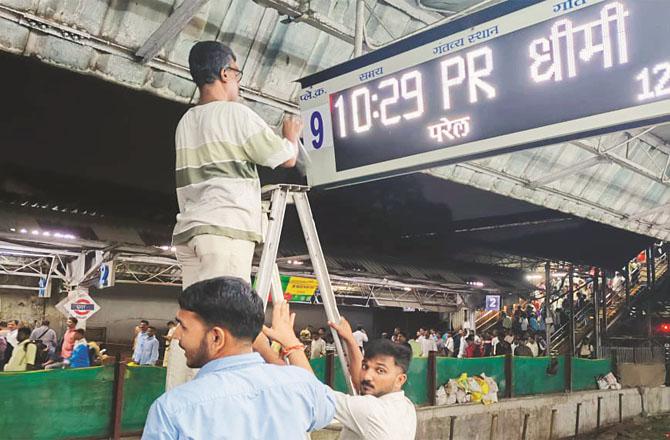
[{"label": "cream and olive striped t-shirt on man atop ladder", "polygon": [[186,112],[175,144],[179,214],[173,244],[201,234],[260,242],[256,164],[276,168],[295,156],[295,146],[248,107],[226,101]]}]

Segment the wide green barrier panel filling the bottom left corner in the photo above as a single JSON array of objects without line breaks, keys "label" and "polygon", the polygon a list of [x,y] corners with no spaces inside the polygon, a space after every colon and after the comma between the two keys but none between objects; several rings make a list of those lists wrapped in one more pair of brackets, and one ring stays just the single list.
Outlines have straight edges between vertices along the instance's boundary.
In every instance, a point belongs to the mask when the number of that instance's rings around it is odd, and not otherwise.
[{"label": "wide green barrier panel filling the bottom left corner", "polygon": [[113,366],[0,373],[0,438],[107,436],[113,389]]}]

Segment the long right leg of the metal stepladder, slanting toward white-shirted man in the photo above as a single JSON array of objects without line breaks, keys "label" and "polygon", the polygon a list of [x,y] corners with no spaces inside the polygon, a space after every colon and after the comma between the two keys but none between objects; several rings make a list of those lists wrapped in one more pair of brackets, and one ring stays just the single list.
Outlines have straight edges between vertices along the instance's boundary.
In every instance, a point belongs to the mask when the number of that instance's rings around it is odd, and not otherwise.
[{"label": "long right leg of the metal stepladder, slanting toward white-shirted man", "polygon": [[[314,218],[312,217],[312,210],[309,206],[309,200],[307,199],[307,193],[294,193],[293,202],[298,211],[302,231],[305,235],[305,242],[307,244],[307,249],[309,250],[310,259],[312,260],[312,268],[316,274],[316,279],[319,282],[319,290],[321,291],[321,299],[326,310],[326,316],[329,321],[339,323],[340,312],[337,310],[335,293],[333,292],[333,286],[330,282],[330,275],[328,274],[328,268],[326,267],[326,258],[321,249],[316,225],[314,224]],[[335,331],[333,331],[333,339],[335,340],[335,347],[337,348],[342,371],[344,372],[347,382],[347,388],[349,388],[351,394],[355,394],[355,388],[351,381],[351,375],[349,374],[347,365],[349,356],[347,356],[344,347],[342,346],[342,341]]]}]

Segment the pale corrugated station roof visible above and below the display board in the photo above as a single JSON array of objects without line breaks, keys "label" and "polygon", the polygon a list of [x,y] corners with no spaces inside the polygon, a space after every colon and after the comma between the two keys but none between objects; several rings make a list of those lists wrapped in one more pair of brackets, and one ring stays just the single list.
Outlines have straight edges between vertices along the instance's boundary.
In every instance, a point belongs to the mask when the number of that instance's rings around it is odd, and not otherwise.
[{"label": "pale corrugated station roof visible above and below the display board", "polygon": [[[499,0],[366,1],[369,50]],[[199,40],[237,53],[243,96],[271,125],[298,111],[296,80],[353,56],[355,1],[0,0],[0,49],[181,103]],[[661,240],[670,237],[670,126],[547,145],[425,171]]]}]

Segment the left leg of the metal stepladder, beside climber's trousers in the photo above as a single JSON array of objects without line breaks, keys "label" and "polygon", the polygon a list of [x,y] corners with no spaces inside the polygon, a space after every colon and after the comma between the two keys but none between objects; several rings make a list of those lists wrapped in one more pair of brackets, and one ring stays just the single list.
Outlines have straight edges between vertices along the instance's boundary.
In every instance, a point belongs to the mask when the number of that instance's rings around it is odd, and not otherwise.
[{"label": "left leg of the metal stepladder, beside climber's trousers", "polygon": [[[287,188],[277,188],[274,190],[268,219],[268,230],[263,242],[263,253],[261,254],[261,262],[258,265],[258,279],[256,282],[256,291],[263,299],[263,309],[267,308],[268,294],[270,293],[272,278],[274,276],[273,272],[275,272],[277,267],[277,251],[279,250],[279,239],[281,238],[281,230],[284,224],[287,201]],[[277,275],[278,273],[277,271]],[[281,290],[281,281],[279,283],[279,290]]]}]

